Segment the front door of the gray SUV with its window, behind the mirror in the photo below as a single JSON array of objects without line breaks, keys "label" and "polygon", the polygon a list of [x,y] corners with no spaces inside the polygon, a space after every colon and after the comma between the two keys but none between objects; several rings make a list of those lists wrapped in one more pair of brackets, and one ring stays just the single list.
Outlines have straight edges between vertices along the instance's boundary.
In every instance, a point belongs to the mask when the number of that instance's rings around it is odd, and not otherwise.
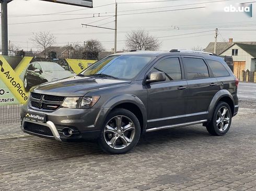
[{"label": "front door of the gray SUV with its window, behind the mirror", "polygon": [[164,57],[158,60],[150,72],[164,72],[166,81],[147,85],[148,91],[148,126],[154,128],[186,120],[188,84],[184,80],[181,58]]}]

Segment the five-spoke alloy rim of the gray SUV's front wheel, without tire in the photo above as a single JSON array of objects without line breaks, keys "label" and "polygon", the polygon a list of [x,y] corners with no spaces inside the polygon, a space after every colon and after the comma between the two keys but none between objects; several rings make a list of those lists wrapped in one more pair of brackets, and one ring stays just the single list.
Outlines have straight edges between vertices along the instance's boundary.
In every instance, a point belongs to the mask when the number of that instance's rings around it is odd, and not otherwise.
[{"label": "five-spoke alloy rim of the gray SUV's front wheel, without tire", "polygon": [[113,117],[104,128],[104,139],[114,149],[126,148],[132,143],[134,137],[134,123],[126,116]]}]

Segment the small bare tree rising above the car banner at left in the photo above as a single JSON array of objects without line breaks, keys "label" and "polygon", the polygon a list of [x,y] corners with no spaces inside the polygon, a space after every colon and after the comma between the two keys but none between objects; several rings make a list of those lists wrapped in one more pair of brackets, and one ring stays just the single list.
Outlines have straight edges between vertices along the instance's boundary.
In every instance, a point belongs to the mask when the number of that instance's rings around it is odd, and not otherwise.
[{"label": "small bare tree rising above the car banner at left", "polygon": [[33,41],[38,46],[38,49],[44,52],[44,57],[46,57],[46,49],[50,51],[51,46],[56,41],[56,38],[50,32],[40,32],[35,33],[31,38],[31,41]]}]

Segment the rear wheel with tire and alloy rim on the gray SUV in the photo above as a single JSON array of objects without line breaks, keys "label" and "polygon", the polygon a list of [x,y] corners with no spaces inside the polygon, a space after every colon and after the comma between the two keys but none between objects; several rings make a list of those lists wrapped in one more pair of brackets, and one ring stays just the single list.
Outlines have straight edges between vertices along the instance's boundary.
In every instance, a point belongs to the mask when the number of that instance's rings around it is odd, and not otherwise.
[{"label": "rear wheel with tire and alloy rim on the gray SUV", "polygon": [[229,105],[220,101],[215,107],[212,121],[206,125],[206,129],[211,135],[222,136],[228,132],[231,121],[232,111]]}]

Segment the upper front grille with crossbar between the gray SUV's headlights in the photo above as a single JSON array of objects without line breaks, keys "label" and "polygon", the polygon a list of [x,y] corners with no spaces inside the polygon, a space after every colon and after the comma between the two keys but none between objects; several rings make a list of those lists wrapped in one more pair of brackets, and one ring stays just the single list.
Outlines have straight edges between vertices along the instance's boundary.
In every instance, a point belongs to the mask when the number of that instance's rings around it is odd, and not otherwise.
[{"label": "upper front grille with crossbar between the gray SUV's headlights", "polygon": [[61,107],[65,97],[31,93],[29,106],[36,110],[54,111]]}]

